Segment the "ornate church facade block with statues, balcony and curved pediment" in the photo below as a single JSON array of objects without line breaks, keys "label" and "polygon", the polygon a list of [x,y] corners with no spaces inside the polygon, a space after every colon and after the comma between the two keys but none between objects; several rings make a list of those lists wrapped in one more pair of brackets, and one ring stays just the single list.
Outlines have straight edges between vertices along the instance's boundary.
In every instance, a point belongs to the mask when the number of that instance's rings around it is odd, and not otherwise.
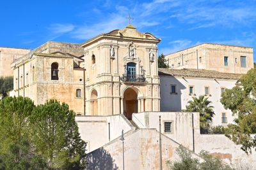
[{"label": "ornate church facade block with statues, balcony and curved pediment", "polygon": [[159,41],[128,25],[83,43],[86,115],[159,111]]}]

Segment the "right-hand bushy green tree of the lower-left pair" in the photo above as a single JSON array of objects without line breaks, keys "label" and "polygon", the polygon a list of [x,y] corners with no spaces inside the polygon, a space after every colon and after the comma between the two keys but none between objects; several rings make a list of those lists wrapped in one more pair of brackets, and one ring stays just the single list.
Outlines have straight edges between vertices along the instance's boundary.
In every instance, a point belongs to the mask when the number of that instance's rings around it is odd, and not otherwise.
[{"label": "right-hand bushy green tree of the lower-left pair", "polygon": [[75,113],[56,100],[36,106],[30,118],[33,142],[51,169],[84,169],[86,143],[81,140]]}]

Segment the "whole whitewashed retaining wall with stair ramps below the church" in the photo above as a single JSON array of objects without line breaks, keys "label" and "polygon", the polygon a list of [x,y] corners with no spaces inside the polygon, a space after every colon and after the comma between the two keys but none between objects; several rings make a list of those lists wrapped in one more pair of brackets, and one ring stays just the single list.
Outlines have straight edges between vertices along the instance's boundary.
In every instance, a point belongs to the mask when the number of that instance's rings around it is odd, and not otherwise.
[{"label": "whole whitewashed retaining wall with stair ramps below the church", "polygon": [[[89,169],[122,169],[122,141],[120,141],[122,129],[125,131],[125,169],[159,169],[159,115],[161,115],[162,127],[164,120],[173,121],[173,134],[164,134],[162,129],[163,169],[167,169],[164,164],[166,160],[178,159],[175,149],[180,144],[193,150],[191,113],[136,113],[133,114],[132,120],[140,127],[138,130],[129,128],[129,124],[121,115],[77,117],[76,121],[82,138],[85,141],[90,141]],[[252,155],[246,155],[239,145],[234,144],[224,135],[200,134],[199,114],[193,113],[193,115],[195,153],[206,150],[227,161],[228,164],[237,165],[247,162],[253,167],[256,166],[255,152]],[[124,120],[122,120],[123,118]],[[106,130],[108,122],[111,124],[116,122],[111,129],[111,134],[114,134],[112,131],[115,131],[116,135],[112,136],[110,141],[108,141],[108,130]],[[124,126],[124,124],[127,125]]]}]

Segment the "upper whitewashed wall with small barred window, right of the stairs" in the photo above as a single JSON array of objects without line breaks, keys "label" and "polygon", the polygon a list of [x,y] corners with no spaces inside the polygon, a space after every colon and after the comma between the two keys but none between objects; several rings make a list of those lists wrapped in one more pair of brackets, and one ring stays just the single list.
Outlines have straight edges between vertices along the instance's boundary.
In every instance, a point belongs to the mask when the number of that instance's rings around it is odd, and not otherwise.
[{"label": "upper whitewashed wall with small barred window, right of the stairs", "polygon": [[[194,125],[192,124],[192,114]],[[180,144],[193,150],[193,126],[195,133],[199,131],[199,113],[188,112],[145,112],[134,113],[132,120],[141,128],[156,128],[159,131],[159,116],[161,115],[161,131]],[[164,132],[164,122],[172,122],[172,132]],[[182,134],[182,135],[181,135]]]}]

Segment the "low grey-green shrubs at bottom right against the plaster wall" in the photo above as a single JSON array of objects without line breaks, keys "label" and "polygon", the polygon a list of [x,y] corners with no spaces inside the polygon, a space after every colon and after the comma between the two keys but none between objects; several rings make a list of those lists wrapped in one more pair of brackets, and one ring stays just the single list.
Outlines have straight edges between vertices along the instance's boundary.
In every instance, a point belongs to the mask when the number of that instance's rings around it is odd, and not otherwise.
[{"label": "low grey-green shrubs at bottom right against the plaster wall", "polygon": [[204,159],[201,161],[193,158],[192,152],[181,145],[176,149],[176,153],[179,155],[180,160],[168,162],[172,170],[232,170],[232,167],[220,159],[212,157],[209,152],[204,150],[199,153],[199,156]]}]

